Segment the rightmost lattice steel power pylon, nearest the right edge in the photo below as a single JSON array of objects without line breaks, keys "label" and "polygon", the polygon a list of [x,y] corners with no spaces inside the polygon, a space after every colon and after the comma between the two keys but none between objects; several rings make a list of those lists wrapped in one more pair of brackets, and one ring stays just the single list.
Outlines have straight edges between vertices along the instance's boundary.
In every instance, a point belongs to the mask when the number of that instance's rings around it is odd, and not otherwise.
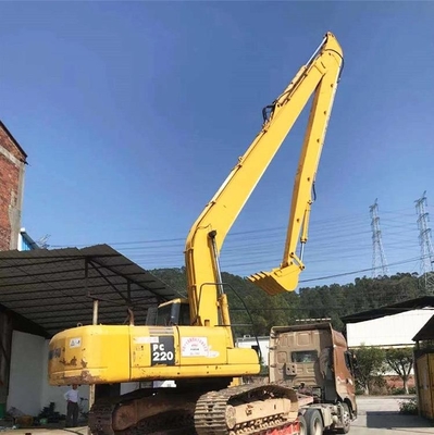
[{"label": "rightmost lattice steel power pylon, nearest the right edge", "polygon": [[419,244],[421,246],[420,276],[424,279],[426,295],[434,294],[434,250],[431,240],[431,228],[429,227],[430,214],[426,211],[426,190],[416,201],[416,213],[418,215]]}]

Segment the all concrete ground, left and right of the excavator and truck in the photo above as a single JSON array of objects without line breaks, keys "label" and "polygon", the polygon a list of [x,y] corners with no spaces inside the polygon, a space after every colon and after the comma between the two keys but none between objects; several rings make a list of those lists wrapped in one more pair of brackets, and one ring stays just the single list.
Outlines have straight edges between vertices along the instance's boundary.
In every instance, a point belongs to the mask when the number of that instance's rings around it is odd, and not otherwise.
[{"label": "all concrete ground, left and right of the excavator and truck", "polygon": [[[400,415],[399,402],[408,400],[402,396],[361,397],[357,403],[359,417],[352,422],[351,435],[434,435],[434,423],[416,415]],[[87,435],[87,427],[74,428],[0,428],[0,435]]]}]

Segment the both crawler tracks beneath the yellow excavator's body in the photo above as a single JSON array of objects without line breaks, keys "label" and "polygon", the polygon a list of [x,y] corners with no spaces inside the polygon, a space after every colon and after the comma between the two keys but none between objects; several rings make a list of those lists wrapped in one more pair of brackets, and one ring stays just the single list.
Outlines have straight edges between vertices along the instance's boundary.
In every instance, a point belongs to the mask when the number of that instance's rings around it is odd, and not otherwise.
[{"label": "both crawler tracks beneath the yellow excavator's body", "polygon": [[[152,402],[152,396],[147,397]],[[194,412],[174,408],[147,417],[123,431],[113,430],[113,414],[137,395],[99,400],[89,413],[90,432],[94,435],[262,435],[285,427],[297,418],[297,395],[283,385],[248,384],[197,397]],[[275,407],[282,399],[288,400],[284,411]]]}]

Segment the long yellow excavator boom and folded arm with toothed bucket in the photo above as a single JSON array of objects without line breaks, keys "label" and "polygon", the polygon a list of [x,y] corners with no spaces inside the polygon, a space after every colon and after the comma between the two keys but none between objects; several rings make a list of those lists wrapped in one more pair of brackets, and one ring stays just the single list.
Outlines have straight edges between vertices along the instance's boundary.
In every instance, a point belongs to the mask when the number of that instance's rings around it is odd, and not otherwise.
[{"label": "long yellow excavator boom and folded arm with toothed bucket", "polygon": [[327,33],[318,50],[282,95],[264,108],[261,130],[193,225],[185,249],[193,324],[214,326],[225,323],[219,266],[223,241],[313,95],[293,190],[282,264],[271,272],[260,272],[249,277],[270,295],[296,289],[299,274],[305,269],[301,256],[296,254],[296,248],[299,240],[305,244],[308,238],[312,186],[342,66],[342,48],[334,35]]}]

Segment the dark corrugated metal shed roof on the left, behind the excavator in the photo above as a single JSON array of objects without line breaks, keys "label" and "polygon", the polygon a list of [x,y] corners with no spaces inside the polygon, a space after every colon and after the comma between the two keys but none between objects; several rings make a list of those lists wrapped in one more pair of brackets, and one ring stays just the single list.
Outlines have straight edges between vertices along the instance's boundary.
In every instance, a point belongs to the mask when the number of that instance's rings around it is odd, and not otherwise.
[{"label": "dark corrugated metal shed roof on the left, behind the excavator", "polygon": [[122,324],[127,308],[145,324],[149,307],[175,290],[108,245],[0,252],[0,303],[40,325],[48,336],[78,323]]}]

